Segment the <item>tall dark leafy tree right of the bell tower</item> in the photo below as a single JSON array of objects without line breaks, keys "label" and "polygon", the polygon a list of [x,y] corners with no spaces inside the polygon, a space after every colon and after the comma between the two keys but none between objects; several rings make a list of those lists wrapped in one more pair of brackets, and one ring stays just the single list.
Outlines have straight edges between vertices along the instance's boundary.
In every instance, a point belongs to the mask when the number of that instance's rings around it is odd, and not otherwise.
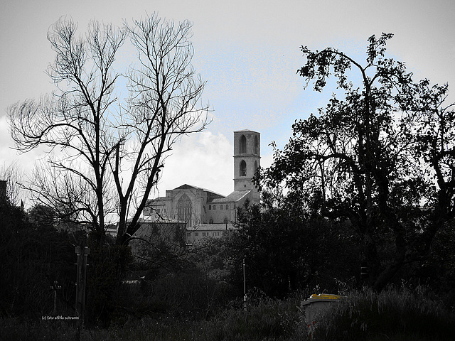
[{"label": "tall dark leafy tree right of the bell tower", "polygon": [[319,114],[296,120],[289,143],[275,148],[274,163],[262,172],[267,185],[284,181],[303,210],[350,222],[376,290],[426,256],[455,213],[447,86],[414,83],[405,63],[386,58],[390,38],[368,39],[364,65],[335,48],[301,48],[306,63],[298,73],[306,85],[314,81],[321,92],[335,77],[342,93]]}]

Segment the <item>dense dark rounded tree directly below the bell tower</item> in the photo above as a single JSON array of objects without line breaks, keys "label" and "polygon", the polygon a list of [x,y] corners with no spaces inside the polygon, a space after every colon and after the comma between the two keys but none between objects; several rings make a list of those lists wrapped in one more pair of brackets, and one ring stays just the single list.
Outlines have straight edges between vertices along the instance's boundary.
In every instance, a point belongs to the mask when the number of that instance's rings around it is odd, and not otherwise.
[{"label": "dense dark rounded tree directly below the bell tower", "polygon": [[[360,269],[352,252],[358,241],[347,224],[308,217],[284,197],[262,193],[262,207],[245,205],[237,220],[232,247],[238,264],[245,256],[249,290],[274,297],[316,286],[336,291],[336,280],[351,282]],[[241,274],[232,274],[242,281]]]}]

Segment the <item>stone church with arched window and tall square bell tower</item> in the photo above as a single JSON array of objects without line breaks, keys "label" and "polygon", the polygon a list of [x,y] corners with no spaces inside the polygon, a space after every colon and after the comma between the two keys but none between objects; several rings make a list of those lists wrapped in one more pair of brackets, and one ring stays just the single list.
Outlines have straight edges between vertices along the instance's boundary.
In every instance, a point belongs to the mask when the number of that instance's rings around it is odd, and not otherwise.
[{"label": "stone church with arched window and tall square bell tower", "polygon": [[260,166],[260,134],[252,130],[234,131],[234,190],[224,196],[193,185],[166,190],[166,196],[147,202],[139,234],[147,227],[184,226],[186,244],[205,237],[221,237],[236,221],[237,207],[246,200],[259,203],[259,193],[252,183]]}]

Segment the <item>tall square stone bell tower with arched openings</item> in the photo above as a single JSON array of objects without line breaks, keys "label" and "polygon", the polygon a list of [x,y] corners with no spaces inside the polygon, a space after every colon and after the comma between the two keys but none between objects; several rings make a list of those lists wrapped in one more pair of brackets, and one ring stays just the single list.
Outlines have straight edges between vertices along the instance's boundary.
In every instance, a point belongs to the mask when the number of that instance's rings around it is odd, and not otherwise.
[{"label": "tall square stone bell tower with arched openings", "polygon": [[260,162],[261,134],[247,129],[234,131],[234,190],[252,190],[252,196],[259,200],[252,178]]}]

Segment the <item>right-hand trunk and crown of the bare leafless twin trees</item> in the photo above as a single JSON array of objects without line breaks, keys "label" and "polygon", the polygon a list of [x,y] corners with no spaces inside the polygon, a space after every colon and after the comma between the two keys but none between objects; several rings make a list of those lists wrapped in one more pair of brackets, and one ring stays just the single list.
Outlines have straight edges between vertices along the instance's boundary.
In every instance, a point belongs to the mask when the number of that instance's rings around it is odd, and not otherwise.
[{"label": "right-hand trunk and crown of the bare leafless twin trees", "polygon": [[[161,156],[171,150],[179,136],[201,131],[208,124],[207,117],[197,106],[205,83],[191,67],[193,47],[191,23],[178,26],[161,21],[156,16],[134,21],[126,26],[132,44],[139,52],[137,69],[129,72],[129,98],[127,119],[122,120],[124,139],[137,141],[134,151],[118,144],[115,152],[114,180],[119,194],[119,234],[117,243],[123,244],[137,230],[137,222],[146,205],[151,188],[156,184],[163,163]],[[122,188],[120,168],[122,155],[134,155],[130,163],[131,177]],[[132,196],[137,179],[144,181],[137,188],[139,206],[127,225]],[[122,238],[120,240],[119,238]]]}]

